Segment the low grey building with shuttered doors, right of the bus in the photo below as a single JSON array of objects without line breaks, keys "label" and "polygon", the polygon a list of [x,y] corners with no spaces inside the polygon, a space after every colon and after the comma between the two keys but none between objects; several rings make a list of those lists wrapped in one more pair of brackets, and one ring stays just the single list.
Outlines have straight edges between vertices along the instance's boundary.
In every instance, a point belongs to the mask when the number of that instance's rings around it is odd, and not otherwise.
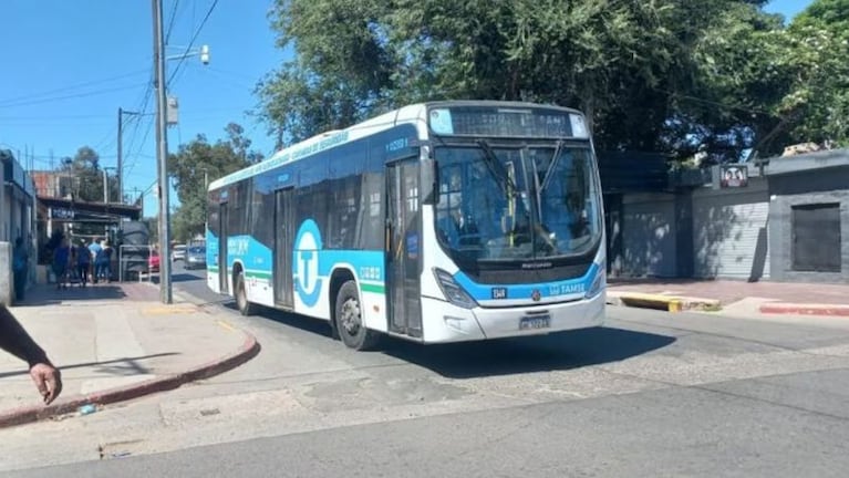
[{"label": "low grey building with shuttered doors, right of the bus", "polygon": [[707,173],[622,196],[612,277],[849,282],[848,149]]}]

